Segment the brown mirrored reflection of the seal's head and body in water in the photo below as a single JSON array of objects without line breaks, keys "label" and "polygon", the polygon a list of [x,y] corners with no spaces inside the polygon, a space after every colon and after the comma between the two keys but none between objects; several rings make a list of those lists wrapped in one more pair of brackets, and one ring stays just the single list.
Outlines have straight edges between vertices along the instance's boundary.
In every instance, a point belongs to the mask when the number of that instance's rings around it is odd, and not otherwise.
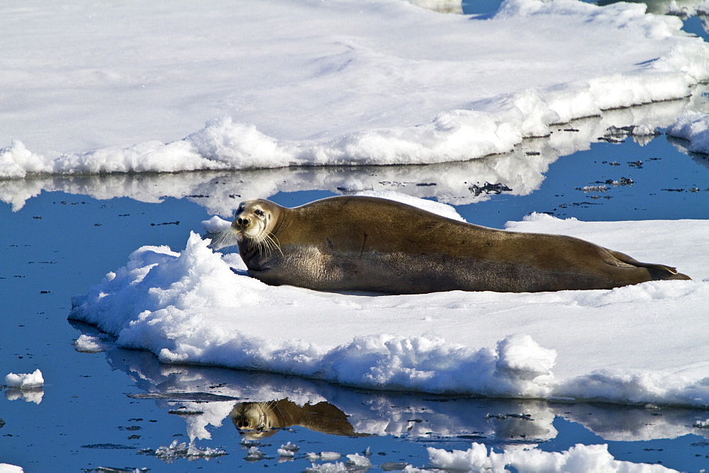
[{"label": "brown mirrored reflection of the seal's head and body in water", "polygon": [[347,414],[329,402],[298,404],[288,398],[267,402],[241,402],[234,406],[231,421],[249,440],[269,437],[281,428],[302,426],[329,435],[357,435]]}]

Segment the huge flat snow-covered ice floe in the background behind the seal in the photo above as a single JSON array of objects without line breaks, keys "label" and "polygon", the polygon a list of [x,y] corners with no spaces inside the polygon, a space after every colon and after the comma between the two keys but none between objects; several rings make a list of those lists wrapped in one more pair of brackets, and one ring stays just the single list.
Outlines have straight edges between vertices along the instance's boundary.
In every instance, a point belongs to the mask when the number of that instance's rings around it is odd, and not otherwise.
[{"label": "huge flat snow-covered ice floe in the background behind the seal", "polygon": [[464,161],[709,77],[709,46],[640,4],[171,6],[0,14],[0,177]]}]

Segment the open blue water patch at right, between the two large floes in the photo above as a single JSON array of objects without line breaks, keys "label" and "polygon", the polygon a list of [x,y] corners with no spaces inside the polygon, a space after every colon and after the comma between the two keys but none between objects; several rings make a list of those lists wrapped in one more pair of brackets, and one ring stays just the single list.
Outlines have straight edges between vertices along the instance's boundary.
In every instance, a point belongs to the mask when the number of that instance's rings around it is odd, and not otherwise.
[{"label": "open blue water patch at right, between the two large floes", "polygon": [[[709,159],[683,154],[665,137],[644,147],[592,144],[554,162],[545,176],[542,188],[528,196],[502,194],[484,204],[463,205],[459,212],[470,222],[496,228],[531,212],[586,221],[709,218]],[[622,178],[632,184],[604,184]],[[604,185],[605,192],[580,190]]]}]

